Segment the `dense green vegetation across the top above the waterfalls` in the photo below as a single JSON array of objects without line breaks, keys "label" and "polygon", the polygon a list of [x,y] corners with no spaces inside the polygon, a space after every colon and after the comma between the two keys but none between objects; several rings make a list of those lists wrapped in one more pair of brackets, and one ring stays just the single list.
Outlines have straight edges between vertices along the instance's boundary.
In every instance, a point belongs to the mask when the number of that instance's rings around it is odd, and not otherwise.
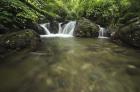
[{"label": "dense green vegetation across the top above the waterfalls", "polygon": [[40,18],[90,18],[104,24],[117,23],[122,16],[139,15],[139,0],[1,0],[2,24],[37,22]]}]

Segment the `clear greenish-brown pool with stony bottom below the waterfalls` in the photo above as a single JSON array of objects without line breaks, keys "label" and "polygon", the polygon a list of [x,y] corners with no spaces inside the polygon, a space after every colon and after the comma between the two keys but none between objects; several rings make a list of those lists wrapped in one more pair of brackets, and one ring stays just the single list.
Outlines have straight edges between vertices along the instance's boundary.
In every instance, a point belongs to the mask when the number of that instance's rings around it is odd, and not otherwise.
[{"label": "clear greenish-brown pool with stony bottom below the waterfalls", "polygon": [[140,92],[140,50],[108,39],[44,38],[0,64],[0,92]]}]

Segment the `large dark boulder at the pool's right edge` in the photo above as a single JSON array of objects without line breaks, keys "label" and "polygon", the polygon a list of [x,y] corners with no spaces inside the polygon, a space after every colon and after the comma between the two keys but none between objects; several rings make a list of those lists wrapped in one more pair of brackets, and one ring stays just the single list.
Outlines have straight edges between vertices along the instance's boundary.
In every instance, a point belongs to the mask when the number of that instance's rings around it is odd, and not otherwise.
[{"label": "large dark boulder at the pool's right edge", "polygon": [[112,38],[119,39],[126,44],[140,48],[140,19],[133,18],[128,20],[119,28]]}]

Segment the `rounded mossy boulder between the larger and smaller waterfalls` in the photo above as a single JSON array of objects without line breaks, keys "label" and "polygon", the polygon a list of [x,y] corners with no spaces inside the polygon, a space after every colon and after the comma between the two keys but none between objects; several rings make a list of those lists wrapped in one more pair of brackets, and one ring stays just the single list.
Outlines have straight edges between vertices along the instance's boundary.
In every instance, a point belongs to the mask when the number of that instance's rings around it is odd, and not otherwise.
[{"label": "rounded mossy boulder between the larger and smaller waterfalls", "polygon": [[88,19],[78,20],[74,36],[76,37],[98,37],[99,27]]}]

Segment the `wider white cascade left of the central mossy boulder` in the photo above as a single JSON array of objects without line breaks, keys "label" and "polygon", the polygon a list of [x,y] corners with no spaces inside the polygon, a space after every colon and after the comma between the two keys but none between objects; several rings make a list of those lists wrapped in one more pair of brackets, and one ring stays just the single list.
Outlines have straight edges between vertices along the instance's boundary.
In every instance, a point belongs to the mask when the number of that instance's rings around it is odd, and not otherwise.
[{"label": "wider white cascade left of the central mossy boulder", "polygon": [[44,28],[46,32],[46,34],[41,35],[41,37],[73,37],[75,25],[76,25],[76,21],[70,21],[69,23],[65,24],[64,27],[62,27],[62,23],[59,23],[58,33],[53,34],[53,33],[50,33],[46,24],[41,24],[41,26]]}]

